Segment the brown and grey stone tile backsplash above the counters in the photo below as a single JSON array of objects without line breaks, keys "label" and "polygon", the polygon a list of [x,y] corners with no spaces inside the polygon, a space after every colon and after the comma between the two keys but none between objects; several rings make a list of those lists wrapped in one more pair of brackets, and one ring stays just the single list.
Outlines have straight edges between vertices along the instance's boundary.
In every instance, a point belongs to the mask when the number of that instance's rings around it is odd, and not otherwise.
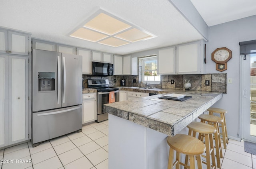
[{"label": "brown and grey stone tile backsplash above the counters", "polygon": [[[158,85],[150,85],[150,87],[156,88],[170,88],[185,90],[185,80],[190,80],[190,90],[196,91],[208,91],[208,92],[227,92],[226,73],[206,74],[206,75],[161,75],[161,82]],[[107,77],[95,77],[90,75],[83,75],[84,88],[88,87],[88,79],[108,79],[109,86],[120,86],[120,80],[125,79],[126,86],[139,86],[145,87],[146,84],[141,83],[139,76],[107,76]],[[132,83],[132,80],[136,79],[136,83]],[[114,82],[116,80],[116,82]],[[174,80],[174,84],[171,84],[171,80]],[[209,81],[209,86],[206,86],[206,80]]]}]

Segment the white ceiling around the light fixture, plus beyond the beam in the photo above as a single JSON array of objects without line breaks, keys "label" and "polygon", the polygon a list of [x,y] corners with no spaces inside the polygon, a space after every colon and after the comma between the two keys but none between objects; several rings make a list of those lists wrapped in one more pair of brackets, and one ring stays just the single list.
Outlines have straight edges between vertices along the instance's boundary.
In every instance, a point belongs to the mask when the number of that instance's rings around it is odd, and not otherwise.
[{"label": "white ceiling around the light fixture, plus beyond the beam", "polygon": [[[208,26],[230,21],[229,16],[235,16],[234,13],[246,17],[245,10],[242,10],[242,15],[240,7],[246,9],[244,5],[247,1],[250,2],[250,9],[256,9],[255,0],[191,1]],[[238,6],[234,5],[239,1]],[[230,4],[232,8],[239,9],[229,10]],[[68,36],[100,8],[157,37],[121,47],[109,47]],[[169,0],[1,0],[0,16],[1,27],[28,31],[34,38],[121,55],[203,38]],[[239,18],[231,18],[234,19]]]}]

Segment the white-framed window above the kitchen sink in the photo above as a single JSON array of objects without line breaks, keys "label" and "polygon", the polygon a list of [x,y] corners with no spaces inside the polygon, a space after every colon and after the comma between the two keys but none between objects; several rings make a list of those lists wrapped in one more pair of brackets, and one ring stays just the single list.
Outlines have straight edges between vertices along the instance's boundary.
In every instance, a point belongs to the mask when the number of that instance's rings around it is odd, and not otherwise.
[{"label": "white-framed window above the kitchen sink", "polygon": [[160,84],[156,56],[142,58],[142,83]]}]

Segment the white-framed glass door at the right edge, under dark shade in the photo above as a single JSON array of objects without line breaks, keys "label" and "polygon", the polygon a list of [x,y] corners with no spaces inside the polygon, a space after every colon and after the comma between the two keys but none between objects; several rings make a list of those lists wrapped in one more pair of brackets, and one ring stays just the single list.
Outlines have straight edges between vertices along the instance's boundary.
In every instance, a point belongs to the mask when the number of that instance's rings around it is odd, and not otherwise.
[{"label": "white-framed glass door at the right edge, under dark shade", "polygon": [[256,54],[246,55],[246,60],[240,56],[240,59],[242,139],[256,143],[256,76],[250,70],[254,65],[251,63],[256,61]]}]

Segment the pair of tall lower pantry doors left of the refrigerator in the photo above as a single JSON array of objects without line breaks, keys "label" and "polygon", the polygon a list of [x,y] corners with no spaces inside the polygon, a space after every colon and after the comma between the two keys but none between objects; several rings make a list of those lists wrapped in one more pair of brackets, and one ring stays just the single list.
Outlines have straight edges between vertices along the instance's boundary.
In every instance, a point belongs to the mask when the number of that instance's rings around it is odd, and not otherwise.
[{"label": "pair of tall lower pantry doors left of the refrigerator", "polygon": [[28,140],[28,57],[0,55],[0,147]]}]

